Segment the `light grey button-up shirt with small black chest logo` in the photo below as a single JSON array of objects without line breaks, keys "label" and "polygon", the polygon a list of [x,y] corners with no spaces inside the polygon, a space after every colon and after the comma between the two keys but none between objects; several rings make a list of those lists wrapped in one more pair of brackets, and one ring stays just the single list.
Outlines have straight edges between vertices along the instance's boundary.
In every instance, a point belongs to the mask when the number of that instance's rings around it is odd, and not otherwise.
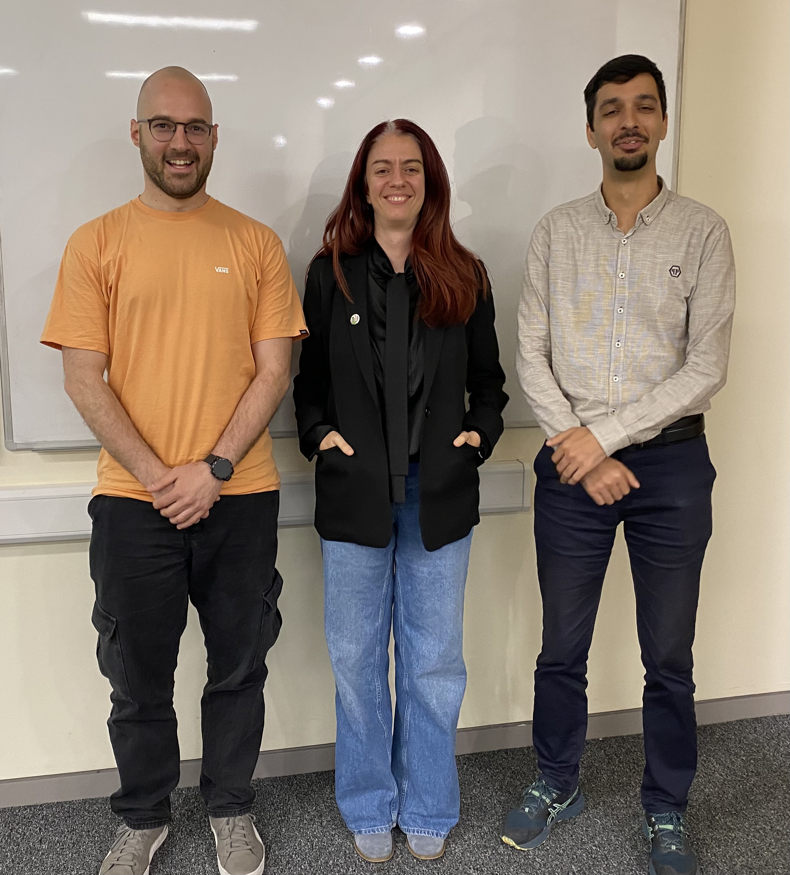
[{"label": "light grey button-up shirt with small black chest logo", "polygon": [[586,425],[607,455],[710,409],[724,386],[735,264],[724,220],[661,193],[623,234],[600,190],[529,244],[516,372],[549,437]]}]

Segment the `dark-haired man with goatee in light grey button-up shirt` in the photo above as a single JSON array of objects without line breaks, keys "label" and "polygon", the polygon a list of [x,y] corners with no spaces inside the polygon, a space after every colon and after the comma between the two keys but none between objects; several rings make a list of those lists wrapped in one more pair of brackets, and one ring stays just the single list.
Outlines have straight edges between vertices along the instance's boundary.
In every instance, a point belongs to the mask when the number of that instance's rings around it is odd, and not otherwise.
[{"label": "dark-haired man with goatee in light grey button-up shirt", "polygon": [[654,63],[609,61],[584,99],[603,184],[538,223],[519,308],[519,381],[549,437],[535,458],[541,774],[502,837],[535,848],[584,807],[587,655],[623,522],[646,669],[650,872],[693,875],[684,817],[696,771],[691,645],[716,476],[703,412],[726,379],[735,268],[724,221],[656,174],[667,97]]}]

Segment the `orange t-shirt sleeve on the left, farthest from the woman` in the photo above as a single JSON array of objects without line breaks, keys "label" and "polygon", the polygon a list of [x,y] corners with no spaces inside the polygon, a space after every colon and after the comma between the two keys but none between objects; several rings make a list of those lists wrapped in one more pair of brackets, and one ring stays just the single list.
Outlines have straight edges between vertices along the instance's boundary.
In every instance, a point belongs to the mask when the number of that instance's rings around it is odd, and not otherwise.
[{"label": "orange t-shirt sleeve on the left, farthest from the woman", "polygon": [[109,300],[101,269],[73,245],[66,244],[41,343],[60,349],[90,349],[109,355]]}]

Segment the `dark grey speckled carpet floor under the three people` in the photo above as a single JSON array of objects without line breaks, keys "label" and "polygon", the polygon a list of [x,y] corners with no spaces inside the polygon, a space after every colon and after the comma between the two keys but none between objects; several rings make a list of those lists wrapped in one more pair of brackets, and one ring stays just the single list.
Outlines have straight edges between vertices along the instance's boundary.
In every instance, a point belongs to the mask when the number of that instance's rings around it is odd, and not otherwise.
[{"label": "dark grey speckled carpet floor under the three people", "polygon": [[[787,717],[702,726],[689,823],[704,875],[790,873]],[[257,781],[258,827],[267,875],[645,875],[640,834],[640,736],[587,743],[582,781],[587,808],[561,823],[548,843],[520,852],[500,842],[503,812],[535,775],[532,748],[458,758],[461,820],[444,858],[411,858],[395,830],[395,857],[365,863],[353,853],[333,799],[333,773]],[[115,831],[105,799],[0,810],[3,875],[95,875]],[[150,875],[216,875],[216,857],[196,789],[173,794],[171,835]]]}]

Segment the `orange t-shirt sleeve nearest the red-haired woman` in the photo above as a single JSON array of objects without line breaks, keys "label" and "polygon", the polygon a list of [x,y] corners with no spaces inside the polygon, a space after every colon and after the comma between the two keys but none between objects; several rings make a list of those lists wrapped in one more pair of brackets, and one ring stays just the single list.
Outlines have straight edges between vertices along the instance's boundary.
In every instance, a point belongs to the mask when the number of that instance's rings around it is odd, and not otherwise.
[{"label": "orange t-shirt sleeve nearest the red-haired woman", "polygon": [[275,337],[307,337],[302,304],[290,275],[288,259],[280,238],[274,232],[264,249],[258,304],[249,332],[251,343]]}]

